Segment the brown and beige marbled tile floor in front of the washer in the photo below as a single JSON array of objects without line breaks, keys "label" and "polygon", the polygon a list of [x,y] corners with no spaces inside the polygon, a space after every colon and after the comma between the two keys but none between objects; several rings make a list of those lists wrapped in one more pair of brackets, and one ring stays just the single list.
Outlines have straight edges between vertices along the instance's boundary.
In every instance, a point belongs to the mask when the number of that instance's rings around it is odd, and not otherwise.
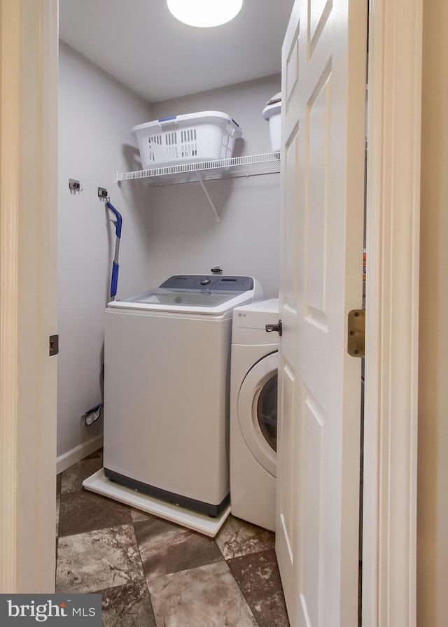
[{"label": "brown and beige marbled tile floor in front of the washer", "polygon": [[274,534],[230,516],[209,538],[57,477],[56,591],[101,592],[103,627],[289,627]]}]

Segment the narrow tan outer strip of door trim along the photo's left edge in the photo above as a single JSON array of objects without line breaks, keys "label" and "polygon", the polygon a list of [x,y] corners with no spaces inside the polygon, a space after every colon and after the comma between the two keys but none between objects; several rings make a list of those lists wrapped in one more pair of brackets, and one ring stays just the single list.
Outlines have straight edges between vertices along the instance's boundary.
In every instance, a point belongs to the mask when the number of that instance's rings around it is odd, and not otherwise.
[{"label": "narrow tan outer strip of door trim along the photo's left edge", "polygon": [[[0,591],[18,580],[18,181],[20,3],[0,1]],[[6,306],[7,304],[7,306]]]}]

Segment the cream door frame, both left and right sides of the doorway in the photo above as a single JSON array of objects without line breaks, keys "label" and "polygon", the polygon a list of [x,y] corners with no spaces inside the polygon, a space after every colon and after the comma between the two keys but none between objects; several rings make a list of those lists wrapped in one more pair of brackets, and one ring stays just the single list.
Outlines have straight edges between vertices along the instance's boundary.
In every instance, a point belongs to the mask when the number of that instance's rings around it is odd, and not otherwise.
[{"label": "cream door frame, both left and right sides of the doorway", "polygon": [[[365,627],[415,625],[422,2],[370,0]],[[45,344],[48,327],[55,332],[55,265],[50,263],[57,237],[57,0],[0,0],[0,10],[0,472],[6,477],[0,486],[0,592],[50,592],[55,563],[55,482],[49,477],[56,472],[56,360],[38,351],[36,369],[35,356],[32,362],[24,358],[30,349],[23,347],[22,339],[32,330]],[[36,38],[22,40],[22,20]],[[38,28],[43,28],[40,38]],[[25,57],[41,59],[38,80],[27,83],[24,100],[43,127],[27,125],[19,113]],[[41,128],[45,132],[39,132]],[[39,155],[39,167],[28,171],[20,168],[25,130],[34,155]],[[32,257],[22,246],[30,236],[36,206],[48,227],[48,240],[37,243]],[[399,229],[394,227],[398,224]],[[49,283],[41,281],[42,267]],[[23,272],[31,273],[39,286],[39,316],[36,303],[27,307],[23,299]],[[38,443],[33,437],[20,440],[21,425],[38,434]],[[29,493],[30,476],[37,478],[36,498]],[[23,551],[29,547],[30,519],[34,525],[38,521],[39,533],[32,538],[33,550]],[[409,577],[403,577],[405,572]]]}]

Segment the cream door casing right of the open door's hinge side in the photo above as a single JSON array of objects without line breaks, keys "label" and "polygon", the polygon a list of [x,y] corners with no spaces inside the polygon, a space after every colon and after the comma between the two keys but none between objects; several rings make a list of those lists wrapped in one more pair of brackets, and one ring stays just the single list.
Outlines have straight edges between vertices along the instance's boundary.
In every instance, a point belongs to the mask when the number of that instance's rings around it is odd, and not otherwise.
[{"label": "cream door casing right of the open door's hinge side", "polygon": [[422,1],[370,1],[363,627],[416,625]]}]

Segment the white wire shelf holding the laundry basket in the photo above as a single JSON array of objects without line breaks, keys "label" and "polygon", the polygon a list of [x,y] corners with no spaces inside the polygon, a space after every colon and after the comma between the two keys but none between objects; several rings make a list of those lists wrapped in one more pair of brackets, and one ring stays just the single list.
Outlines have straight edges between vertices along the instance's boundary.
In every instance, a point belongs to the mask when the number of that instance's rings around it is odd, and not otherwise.
[{"label": "white wire shelf holding the laundry basket", "polygon": [[116,183],[140,178],[145,179],[151,185],[175,185],[176,183],[202,183],[218,178],[244,178],[261,174],[277,174],[279,171],[280,153],[263,153],[248,157],[183,163],[135,172],[117,172]]}]

